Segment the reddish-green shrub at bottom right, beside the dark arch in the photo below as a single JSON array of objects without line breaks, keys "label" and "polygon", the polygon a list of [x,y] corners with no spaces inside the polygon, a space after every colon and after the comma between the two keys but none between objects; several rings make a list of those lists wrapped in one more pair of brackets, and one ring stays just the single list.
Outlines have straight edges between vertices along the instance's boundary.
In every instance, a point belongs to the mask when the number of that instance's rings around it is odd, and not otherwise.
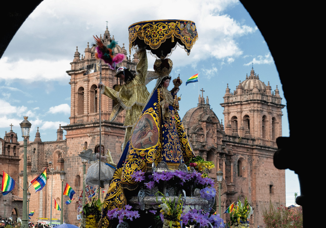
[{"label": "reddish-green shrub at bottom right, beside the dark arch", "polygon": [[[301,208],[301,207],[300,207]],[[299,228],[303,227],[302,210],[300,208],[287,208],[283,204],[272,204],[269,200],[268,208],[262,206],[261,213],[266,228]]]}]

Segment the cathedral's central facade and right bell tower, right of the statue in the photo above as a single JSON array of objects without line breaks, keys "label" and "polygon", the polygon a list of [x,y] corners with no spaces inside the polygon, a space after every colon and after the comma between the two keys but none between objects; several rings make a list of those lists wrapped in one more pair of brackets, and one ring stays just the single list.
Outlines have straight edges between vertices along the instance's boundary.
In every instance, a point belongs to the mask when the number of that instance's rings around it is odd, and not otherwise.
[{"label": "cathedral's central facade and right bell tower, right of the statue", "polygon": [[[269,203],[270,197],[274,203],[285,204],[285,171],[273,164],[275,140],[282,136],[282,98],[277,87],[272,94],[271,86],[261,82],[252,69],[233,93],[229,86],[226,89],[221,104],[227,123],[224,130],[222,120],[208,104],[208,97],[205,103],[203,91],[198,106],[188,110],[182,120],[189,140],[196,155],[215,162],[209,173],[211,178],[216,179],[219,168],[223,172],[222,212],[238,197],[247,197],[254,208],[250,227],[261,227],[260,209]],[[218,205],[218,184],[215,188]],[[229,214],[223,214],[223,219],[229,221]]]}]

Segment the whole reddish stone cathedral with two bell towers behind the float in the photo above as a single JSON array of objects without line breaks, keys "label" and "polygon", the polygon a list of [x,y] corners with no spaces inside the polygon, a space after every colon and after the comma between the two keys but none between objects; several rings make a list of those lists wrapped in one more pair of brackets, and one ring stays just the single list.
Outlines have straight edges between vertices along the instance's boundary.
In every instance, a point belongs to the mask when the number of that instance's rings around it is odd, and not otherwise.
[{"label": "whole reddish stone cathedral with two bell towers behind the float", "polygon": [[[104,34],[100,35],[104,44],[110,43],[111,38],[108,27]],[[130,68],[135,73],[139,59],[136,54],[133,58],[127,56],[126,48],[116,46],[115,52],[125,55],[121,66]],[[42,142],[41,131],[37,129],[34,141],[32,133],[27,146],[27,175],[28,180],[33,180],[39,172],[48,167],[47,185],[39,192],[31,192],[30,210],[35,209],[36,218],[50,218],[51,207],[51,183],[53,181],[53,196],[60,205],[61,180],[59,172],[66,172],[66,182],[79,196],[82,190],[82,162],[78,154],[83,148],[94,149],[99,143],[99,64],[95,59],[95,48],[87,44],[81,57],[78,48],[70,63],[71,85],[71,114],[70,123],[67,126],[59,126],[57,139]],[[113,87],[117,83],[115,72],[102,64],[102,82]],[[262,204],[268,204],[271,198],[273,202],[279,201],[285,204],[285,170],[277,170],[273,164],[273,155],[276,151],[276,138],[282,136],[282,98],[279,90],[272,91],[269,83],[259,79],[259,75],[252,68],[250,75],[239,78],[239,85],[230,92],[229,84],[224,95],[224,124],[212,111],[208,96],[204,96],[204,90],[199,95],[196,107],[189,109],[182,119],[187,135],[196,155],[201,155],[205,160],[214,161],[215,168],[210,170],[209,176],[216,179],[216,172],[221,169],[223,181],[221,184],[221,204],[224,211],[231,203],[244,200],[247,197],[254,208],[254,214],[249,218],[250,227],[263,227],[260,208]],[[233,82],[229,82],[233,83]],[[231,84],[230,84],[231,85]],[[193,101],[194,104],[197,101]],[[109,149],[113,161],[117,163],[122,154],[121,144],[124,140],[125,128],[123,122],[125,113],[122,112],[115,122],[109,122],[109,116],[113,107],[113,101],[106,96],[101,97],[101,122],[102,144]],[[63,130],[67,131],[66,139],[63,139]],[[14,149],[15,148],[15,149]],[[17,150],[19,148],[19,150]],[[8,167],[8,174],[22,186],[23,146],[17,142],[16,133],[6,132],[4,138],[0,138],[0,166]],[[53,164],[50,165],[49,161]],[[86,166],[86,169],[88,165]],[[53,169],[53,174],[52,170]],[[2,175],[2,173],[1,173]],[[50,183],[50,184],[49,184]],[[218,184],[215,184],[218,194]],[[74,195],[74,198],[77,197]],[[7,199],[7,213],[22,217],[20,211],[22,205],[22,190],[16,188],[12,193],[2,196],[0,193],[0,205]],[[64,201],[67,200],[64,196]],[[218,195],[216,195],[218,205]],[[64,210],[66,223],[78,224],[78,204],[72,202]],[[0,214],[3,215],[3,207]],[[58,211],[52,208],[52,219],[59,219]],[[229,214],[223,214],[222,218],[227,222]]]}]

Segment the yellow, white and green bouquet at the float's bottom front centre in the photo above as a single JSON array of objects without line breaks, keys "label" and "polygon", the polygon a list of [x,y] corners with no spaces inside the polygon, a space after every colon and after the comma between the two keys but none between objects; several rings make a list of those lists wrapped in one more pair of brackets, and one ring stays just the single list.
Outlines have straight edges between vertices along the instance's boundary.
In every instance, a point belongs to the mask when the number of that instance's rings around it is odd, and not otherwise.
[{"label": "yellow, white and green bouquet at the float's bottom front centre", "polygon": [[181,214],[182,214],[182,200],[181,195],[179,196],[178,200],[174,198],[173,202],[171,199],[167,200],[165,196],[161,192],[156,193],[156,202],[157,202],[157,194],[162,195],[162,202],[159,207],[162,209],[160,210],[161,220],[163,221],[163,228],[170,227],[172,228],[181,228]]}]

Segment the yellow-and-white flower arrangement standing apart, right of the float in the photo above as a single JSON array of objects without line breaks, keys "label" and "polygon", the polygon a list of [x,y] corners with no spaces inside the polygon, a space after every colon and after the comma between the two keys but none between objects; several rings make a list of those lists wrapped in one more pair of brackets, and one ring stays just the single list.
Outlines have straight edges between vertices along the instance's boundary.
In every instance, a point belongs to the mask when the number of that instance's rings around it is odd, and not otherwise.
[{"label": "yellow-and-white flower arrangement standing apart, right of the float", "polygon": [[244,199],[244,204],[238,199],[238,204],[230,213],[231,226],[234,228],[249,227],[247,219],[253,213],[252,207],[248,204],[247,197]]}]

